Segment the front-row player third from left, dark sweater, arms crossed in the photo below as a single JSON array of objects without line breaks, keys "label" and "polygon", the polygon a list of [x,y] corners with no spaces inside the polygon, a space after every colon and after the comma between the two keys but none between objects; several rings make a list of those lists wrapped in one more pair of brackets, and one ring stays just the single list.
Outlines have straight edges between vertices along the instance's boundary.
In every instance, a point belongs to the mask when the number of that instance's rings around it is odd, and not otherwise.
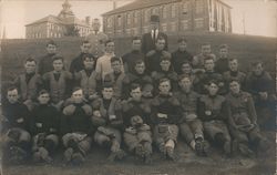
[{"label": "front-row player third from left, dark sweater, arms crossed", "polygon": [[72,103],[63,109],[61,117],[60,133],[65,147],[64,159],[73,165],[84,162],[92,142],[93,127],[90,120],[92,109],[83,102],[83,90],[75,87],[72,91]]}]

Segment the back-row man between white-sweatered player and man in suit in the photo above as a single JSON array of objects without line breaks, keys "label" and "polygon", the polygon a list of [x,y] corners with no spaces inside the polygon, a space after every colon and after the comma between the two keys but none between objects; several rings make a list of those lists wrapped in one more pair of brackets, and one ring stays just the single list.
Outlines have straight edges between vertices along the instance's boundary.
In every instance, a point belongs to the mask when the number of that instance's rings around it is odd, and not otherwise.
[{"label": "back-row man between white-sweatered player and man in suit", "polygon": [[137,60],[144,60],[144,54],[141,51],[142,40],[138,37],[132,39],[132,51],[122,56],[124,71],[134,73],[135,62]]}]

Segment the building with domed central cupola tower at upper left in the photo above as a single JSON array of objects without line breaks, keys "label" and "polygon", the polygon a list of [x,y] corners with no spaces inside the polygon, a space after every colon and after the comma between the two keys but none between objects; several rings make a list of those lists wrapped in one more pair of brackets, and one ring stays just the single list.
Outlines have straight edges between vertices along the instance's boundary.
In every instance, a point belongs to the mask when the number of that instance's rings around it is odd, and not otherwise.
[{"label": "building with domed central cupola tower at upper left", "polygon": [[69,30],[78,30],[80,37],[88,35],[91,29],[91,19],[85,20],[75,18],[68,0],[62,4],[59,16],[48,16],[38,21],[25,25],[25,38],[61,38],[66,35]]}]

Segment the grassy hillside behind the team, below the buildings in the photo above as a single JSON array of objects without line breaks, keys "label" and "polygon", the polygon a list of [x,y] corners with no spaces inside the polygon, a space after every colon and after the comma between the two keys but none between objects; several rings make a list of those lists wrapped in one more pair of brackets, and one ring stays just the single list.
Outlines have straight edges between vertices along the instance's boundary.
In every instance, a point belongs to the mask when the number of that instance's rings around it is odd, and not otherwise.
[{"label": "grassy hillside behind the team, below the buildings", "polygon": [[[217,54],[218,47],[227,43],[230,48],[230,56],[239,59],[242,70],[249,69],[249,62],[263,60],[270,72],[275,71],[275,54],[277,52],[277,39],[265,37],[250,37],[226,33],[183,33],[188,41],[187,50],[196,54],[199,52],[201,44],[212,43],[213,52]],[[177,48],[178,35],[168,37],[170,51]],[[80,44],[83,38],[62,38],[54,39],[59,45],[59,52],[65,58],[65,64],[69,66],[71,60],[80,52]],[[123,55],[131,50],[131,38],[117,38],[115,40],[115,52]],[[23,71],[25,58],[39,58],[45,54],[45,44],[48,39],[14,39],[2,42],[2,80],[11,80],[18,73]]]}]

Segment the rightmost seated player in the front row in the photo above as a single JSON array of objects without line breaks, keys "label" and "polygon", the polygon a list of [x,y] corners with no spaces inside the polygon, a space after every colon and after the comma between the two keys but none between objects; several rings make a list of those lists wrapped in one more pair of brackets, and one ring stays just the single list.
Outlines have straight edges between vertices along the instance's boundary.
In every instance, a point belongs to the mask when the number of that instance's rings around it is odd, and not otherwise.
[{"label": "rightmost seated player in the front row", "polygon": [[236,80],[230,81],[229,90],[226,96],[230,105],[229,128],[237,141],[238,151],[243,155],[254,156],[253,151],[248,148],[252,143],[255,150],[265,152],[268,148],[268,141],[259,132],[252,95],[240,91],[239,82]]}]

